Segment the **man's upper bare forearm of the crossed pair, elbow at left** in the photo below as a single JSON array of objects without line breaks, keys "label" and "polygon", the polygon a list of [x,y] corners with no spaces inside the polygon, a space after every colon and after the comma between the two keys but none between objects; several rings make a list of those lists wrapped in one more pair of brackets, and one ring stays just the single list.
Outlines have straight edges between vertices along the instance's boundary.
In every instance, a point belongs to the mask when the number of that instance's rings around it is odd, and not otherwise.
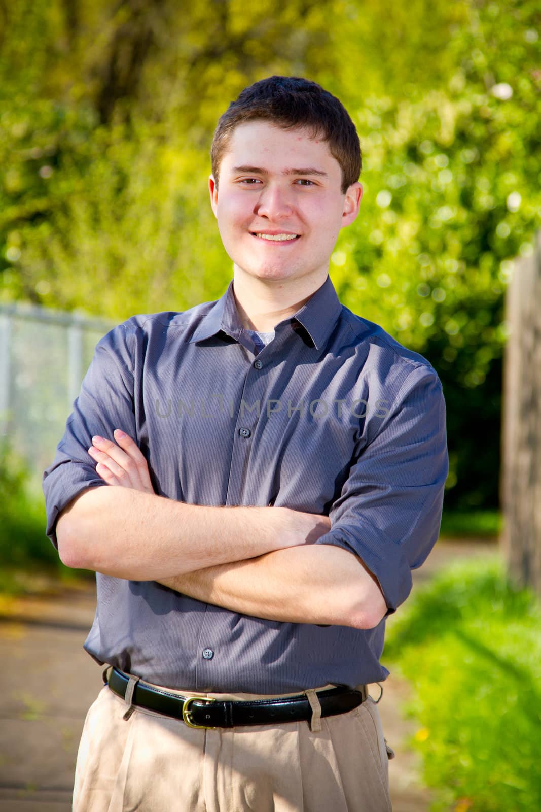
[{"label": "man's upper bare forearm of the crossed pair, elbow at left", "polygon": [[240,559],[301,538],[301,517],[288,508],[208,508],[139,490],[94,487],[57,522],[64,564],[133,581],[153,581]]}]

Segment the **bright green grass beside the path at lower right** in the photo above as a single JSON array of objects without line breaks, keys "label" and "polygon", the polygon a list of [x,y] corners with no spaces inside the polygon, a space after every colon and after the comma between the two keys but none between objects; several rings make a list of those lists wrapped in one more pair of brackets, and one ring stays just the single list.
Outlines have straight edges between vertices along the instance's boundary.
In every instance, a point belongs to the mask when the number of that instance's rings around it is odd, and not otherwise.
[{"label": "bright green grass beside the path at lower right", "polygon": [[535,594],[484,557],[454,564],[389,624],[383,657],[414,685],[410,744],[432,812],[539,810],[540,624]]}]

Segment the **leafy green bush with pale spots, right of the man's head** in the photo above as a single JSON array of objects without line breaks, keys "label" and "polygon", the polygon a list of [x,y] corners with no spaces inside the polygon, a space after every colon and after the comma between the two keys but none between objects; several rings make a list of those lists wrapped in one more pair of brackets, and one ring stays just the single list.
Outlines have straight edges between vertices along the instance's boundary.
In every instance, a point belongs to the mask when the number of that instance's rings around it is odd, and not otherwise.
[{"label": "leafy green bush with pale spots, right of the man's head", "polygon": [[498,502],[503,295],[513,257],[532,252],[539,228],[541,72],[538,4],[462,12],[439,88],[427,80],[367,97],[347,67],[335,79],[358,99],[365,200],[341,235],[333,278],[354,312],[440,374],[446,505],[464,511]]}]

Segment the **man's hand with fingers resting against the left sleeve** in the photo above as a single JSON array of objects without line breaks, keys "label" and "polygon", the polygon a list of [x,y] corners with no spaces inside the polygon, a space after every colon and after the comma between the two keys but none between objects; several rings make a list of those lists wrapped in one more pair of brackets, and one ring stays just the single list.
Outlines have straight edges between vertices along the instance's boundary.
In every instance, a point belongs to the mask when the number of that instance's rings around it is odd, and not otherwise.
[{"label": "man's hand with fingers resting against the left sleeve", "polygon": [[120,429],[115,429],[113,434],[118,445],[103,437],[92,437],[88,454],[97,460],[96,473],[107,485],[155,493],[147,460],[137,443]]}]

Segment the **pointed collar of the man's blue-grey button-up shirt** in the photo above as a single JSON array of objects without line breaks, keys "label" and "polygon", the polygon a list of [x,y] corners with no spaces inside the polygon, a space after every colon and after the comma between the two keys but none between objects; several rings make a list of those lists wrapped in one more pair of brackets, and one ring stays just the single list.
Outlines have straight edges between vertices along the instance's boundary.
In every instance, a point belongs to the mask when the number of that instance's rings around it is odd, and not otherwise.
[{"label": "pointed collar of the man's blue-grey button-up shirt", "polygon": [[[238,337],[244,328],[234,300],[233,283],[234,280],[231,279],[223,296],[201,319],[199,326],[197,326],[190,339],[190,343],[208,339],[211,335],[216,335],[220,330],[238,341]],[[324,346],[331,334],[341,313],[341,308],[337,292],[330,276],[327,274],[327,279],[306,304],[303,304],[303,307],[297,313],[288,316],[283,322],[302,324],[308,335],[310,335],[314,347],[319,350]]]}]

